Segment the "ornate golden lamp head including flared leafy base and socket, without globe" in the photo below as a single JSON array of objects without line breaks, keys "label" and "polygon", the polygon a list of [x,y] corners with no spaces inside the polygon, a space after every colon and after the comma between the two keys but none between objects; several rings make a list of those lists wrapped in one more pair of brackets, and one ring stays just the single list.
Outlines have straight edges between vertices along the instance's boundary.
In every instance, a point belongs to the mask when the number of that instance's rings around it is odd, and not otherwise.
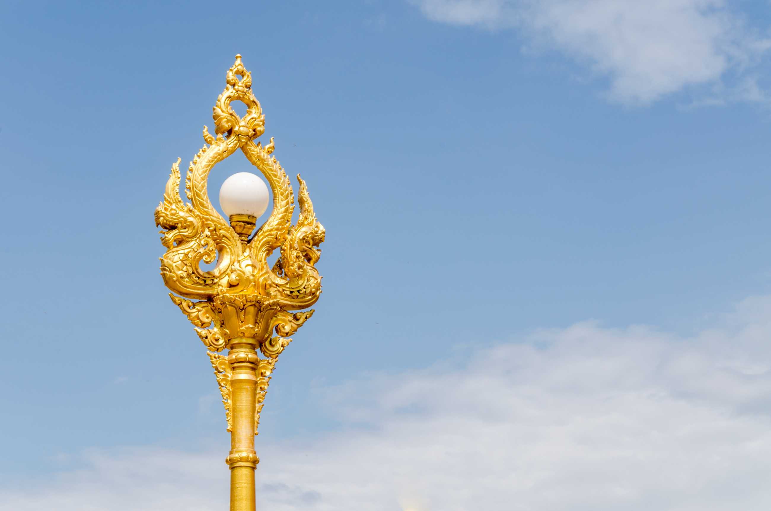
[{"label": "ornate golden lamp head including flared leafy base and socket, without globe", "polygon": [[[325,232],[299,174],[300,215],[297,224],[291,225],[294,193],[284,169],[271,156],[273,139],[266,146],[254,143],[264,133],[264,115],[240,55],[228,69],[226,81],[214,105],[215,135],[204,127],[206,144],[187,171],[185,194],[190,202],[180,197],[177,160],[155,211],[155,222],[163,228],[161,242],[167,248],[160,258],[160,274],[171,292],[179,295],[172,294],[174,303],[198,327],[207,347],[219,351],[231,339],[251,337],[264,354],[275,357],[288,343],[284,337],[313,313],[288,311],[313,305],[322,292],[315,263]],[[246,105],[244,117],[231,108],[233,101]],[[238,149],[259,169],[273,194],[271,215],[254,235],[254,217],[233,215],[228,222],[207,194],[211,169]],[[271,267],[267,259],[275,249],[281,256]],[[201,268],[202,263],[215,262],[214,269]],[[270,338],[272,330],[278,337]]]}]

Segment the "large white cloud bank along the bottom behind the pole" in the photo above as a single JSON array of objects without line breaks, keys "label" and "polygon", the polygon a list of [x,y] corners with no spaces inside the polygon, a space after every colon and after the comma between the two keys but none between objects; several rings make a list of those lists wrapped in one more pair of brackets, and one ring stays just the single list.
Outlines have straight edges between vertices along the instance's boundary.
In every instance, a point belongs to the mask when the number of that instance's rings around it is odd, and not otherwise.
[{"label": "large white cloud bank along the bottom behind the pole", "polygon": [[[259,509],[771,509],[769,336],[771,297],[752,298],[694,337],[577,323],[329,388],[343,431],[258,438]],[[0,510],[227,505],[224,452],[84,457]]]}]

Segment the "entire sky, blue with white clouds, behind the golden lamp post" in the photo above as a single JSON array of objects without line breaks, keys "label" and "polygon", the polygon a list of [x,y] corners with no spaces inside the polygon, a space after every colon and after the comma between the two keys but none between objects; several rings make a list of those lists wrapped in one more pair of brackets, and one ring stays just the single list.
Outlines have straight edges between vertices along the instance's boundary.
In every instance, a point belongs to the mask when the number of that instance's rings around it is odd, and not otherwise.
[{"label": "entire sky, blue with white clouds, behind the golden lamp post", "polygon": [[0,509],[224,505],[224,414],[153,210],[236,53],[327,229],[258,437],[272,509],[768,508],[767,2],[229,5],[0,7]]}]

